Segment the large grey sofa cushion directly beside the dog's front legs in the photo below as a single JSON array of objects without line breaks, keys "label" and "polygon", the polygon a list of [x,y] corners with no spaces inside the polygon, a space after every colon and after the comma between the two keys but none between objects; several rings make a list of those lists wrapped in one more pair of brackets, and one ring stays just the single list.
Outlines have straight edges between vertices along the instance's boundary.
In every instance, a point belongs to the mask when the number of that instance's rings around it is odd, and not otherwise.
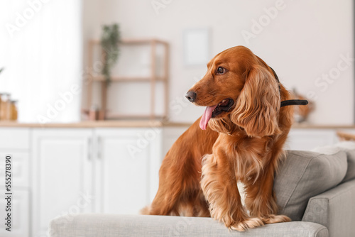
[{"label": "large grey sofa cushion directly beside the dog's front legs", "polygon": [[275,176],[279,213],[300,221],[308,199],[337,186],[346,174],[346,153],[332,155],[288,150]]}]

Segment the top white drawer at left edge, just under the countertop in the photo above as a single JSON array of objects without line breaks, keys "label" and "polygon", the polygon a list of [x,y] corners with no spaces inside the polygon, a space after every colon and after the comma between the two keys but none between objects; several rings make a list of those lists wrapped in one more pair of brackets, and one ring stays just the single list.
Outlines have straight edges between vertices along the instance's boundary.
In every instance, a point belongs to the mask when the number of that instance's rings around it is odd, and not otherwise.
[{"label": "top white drawer at left edge, just under the countertop", "polygon": [[28,150],[30,128],[0,128],[0,149]]}]

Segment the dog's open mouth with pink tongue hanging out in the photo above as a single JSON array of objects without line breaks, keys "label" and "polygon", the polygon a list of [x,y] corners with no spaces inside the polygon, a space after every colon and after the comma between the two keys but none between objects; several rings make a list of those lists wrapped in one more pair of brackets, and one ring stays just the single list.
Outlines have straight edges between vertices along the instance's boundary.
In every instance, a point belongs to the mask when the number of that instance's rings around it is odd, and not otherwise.
[{"label": "dog's open mouth with pink tongue hanging out", "polygon": [[228,112],[233,104],[233,99],[227,98],[214,106],[207,106],[200,120],[200,128],[206,130],[209,119],[216,118],[219,114]]}]

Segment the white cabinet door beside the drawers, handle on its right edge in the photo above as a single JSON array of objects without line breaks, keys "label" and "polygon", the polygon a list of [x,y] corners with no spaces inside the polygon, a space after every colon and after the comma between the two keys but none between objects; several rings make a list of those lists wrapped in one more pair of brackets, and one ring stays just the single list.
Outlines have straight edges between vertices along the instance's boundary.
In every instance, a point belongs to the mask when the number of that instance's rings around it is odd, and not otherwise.
[{"label": "white cabinet door beside the drawers, handle on its right edge", "polygon": [[46,236],[51,219],[93,211],[92,129],[33,129],[33,236]]}]

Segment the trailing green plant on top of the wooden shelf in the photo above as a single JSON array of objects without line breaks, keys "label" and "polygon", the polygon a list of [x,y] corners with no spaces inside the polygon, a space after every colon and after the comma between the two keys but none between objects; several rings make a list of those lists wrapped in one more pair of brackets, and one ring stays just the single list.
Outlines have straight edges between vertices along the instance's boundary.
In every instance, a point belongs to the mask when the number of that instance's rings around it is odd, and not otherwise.
[{"label": "trailing green plant on top of the wooden shelf", "polygon": [[111,68],[119,58],[120,40],[121,34],[118,24],[114,23],[111,26],[103,26],[101,46],[104,50],[104,67],[102,68],[102,75],[104,75],[107,85],[111,82]]}]

